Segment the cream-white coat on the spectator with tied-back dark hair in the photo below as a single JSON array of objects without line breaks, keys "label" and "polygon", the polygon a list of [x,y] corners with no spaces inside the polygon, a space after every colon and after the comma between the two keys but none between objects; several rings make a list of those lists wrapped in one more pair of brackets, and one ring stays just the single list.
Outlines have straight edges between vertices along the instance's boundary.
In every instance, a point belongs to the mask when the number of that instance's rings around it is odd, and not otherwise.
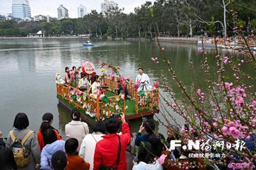
[{"label": "cream-white coat on the spectator with tied-back dark hair", "polygon": [[[83,123],[83,125],[82,125]],[[85,129],[85,130],[84,130]],[[81,143],[84,139],[84,136],[86,134],[89,134],[89,127],[87,123],[81,122],[81,121],[71,121],[67,125],[65,125],[65,133],[67,136],[67,140],[69,138],[76,138],[78,140],[78,149],[79,152]]]}]

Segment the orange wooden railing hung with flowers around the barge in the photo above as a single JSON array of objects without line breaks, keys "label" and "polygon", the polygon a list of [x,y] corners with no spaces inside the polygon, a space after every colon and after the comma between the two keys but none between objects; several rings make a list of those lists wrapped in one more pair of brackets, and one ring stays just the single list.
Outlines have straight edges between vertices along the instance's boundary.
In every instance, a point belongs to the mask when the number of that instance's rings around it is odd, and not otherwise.
[{"label": "orange wooden railing hung with flowers around the barge", "polygon": [[[104,77],[102,80],[102,84],[106,84],[108,86],[108,90],[114,91],[118,88],[118,83],[116,79],[112,80],[110,77]],[[130,84],[126,84],[126,87],[129,91],[129,95],[132,100],[135,100],[135,111],[138,114],[139,112],[144,112],[146,109],[152,109],[154,107],[159,107],[159,88],[152,89],[150,91],[145,91],[145,95],[141,96],[138,94],[138,91],[134,90],[133,86],[135,85],[132,81]],[[122,111],[125,114],[125,99],[121,99],[120,95],[108,97],[108,99],[112,99],[112,101],[116,101],[117,98],[122,100],[122,104],[120,102],[116,102],[115,106],[118,105],[119,110],[116,107],[110,107],[107,103],[104,103],[100,97],[94,97],[86,92],[86,99],[83,97],[80,98],[80,101],[74,101],[70,98],[70,91],[75,90],[76,92],[82,92],[78,88],[73,88],[69,85],[60,85],[56,83],[57,94],[68,101],[69,104],[74,105],[76,108],[84,109],[83,106],[86,105],[85,111],[96,114],[98,120],[102,118],[102,116],[110,117],[111,113],[120,113]],[[85,93],[82,92],[82,95]],[[82,104],[81,104],[82,103]],[[90,106],[90,107],[88,107]]]}]

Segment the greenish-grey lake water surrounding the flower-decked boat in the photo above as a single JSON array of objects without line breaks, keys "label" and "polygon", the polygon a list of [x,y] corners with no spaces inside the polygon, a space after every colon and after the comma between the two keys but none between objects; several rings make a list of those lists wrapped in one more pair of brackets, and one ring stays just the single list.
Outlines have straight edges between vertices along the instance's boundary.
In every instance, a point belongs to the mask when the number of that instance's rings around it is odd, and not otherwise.
[{"label": "greenish-grey lake water surrounding the flower-decked boat", "polygon": [[[156,42],[92,40],[94,47],[84,47],[83,42],[82,39],[0,39],[0,130],[4,137],[12,130],[17,113],[26,113],[30,121],[28,128],[38,131],[42,115],[50,112],[54,115],[52,126],[65,138],[64,127],[70,122],[70,114],[58,104],[54,77],[59,70],[64,75],[66,66],[78,67],[82,60],[94,64],[98,61],[98,64],[95,64],[98,74],[101,73],[99,69],[101,62],[120,66],[120,73],[124,76],[130,75],[133,81],[139,67],[148,74],[151,83],[160,81],[160,74],[164,74],[170,79],[174,93],[177,96],[181,95],[171,80],[172,76],[169,75],[166,64],[161,62],[160,50]],[[190,59],[194,62],[194,76],[199,75],[196,81],[199,85],[204,83],[200,69],[204,57],[197,45],[165,42],[161,44],[165,47],[172,67],[177,70],[187,89],[192,87]],[[214,76],[215,51],[214,49],[206,49],[206,51],[209,53],[210,71]],[[151,57],[158,57],[160,63],[155,64],[151,61]],[[164,87],[161,86],[160,91],[166,95]],[[171,113],[178,118],[178,115]],[[158,114],[158,117],[162,116]],[[155,120],[156,130],[166,136],[166,128],[159,125],[156,116],[152,119]],[[131,122],[133,133],[138,131],[141,122],[141,119]],[[181,120],[179,123],[184,124]]]}]

